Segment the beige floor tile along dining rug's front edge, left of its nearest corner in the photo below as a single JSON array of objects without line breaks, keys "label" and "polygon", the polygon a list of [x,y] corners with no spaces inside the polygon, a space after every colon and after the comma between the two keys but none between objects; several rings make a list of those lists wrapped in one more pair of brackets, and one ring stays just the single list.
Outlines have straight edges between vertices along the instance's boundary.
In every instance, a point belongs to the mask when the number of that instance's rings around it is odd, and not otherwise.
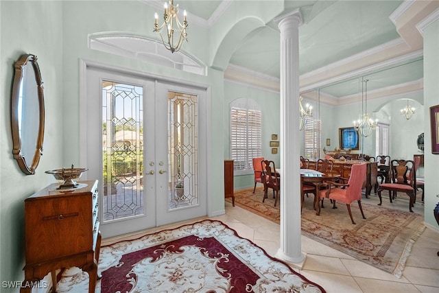
[{"label": "beige floor tile along dining rug's front edge, left of its nearest corner", "polygon": [[398,278],[393,274],[384,272],[379,268],[370,266],[367,263],[357,259],[342,259],[341,261],[353,277],[366,277],[368,279],[377,279],[382,281],[410,283],[407,279],[405,279],[405,277]]}]

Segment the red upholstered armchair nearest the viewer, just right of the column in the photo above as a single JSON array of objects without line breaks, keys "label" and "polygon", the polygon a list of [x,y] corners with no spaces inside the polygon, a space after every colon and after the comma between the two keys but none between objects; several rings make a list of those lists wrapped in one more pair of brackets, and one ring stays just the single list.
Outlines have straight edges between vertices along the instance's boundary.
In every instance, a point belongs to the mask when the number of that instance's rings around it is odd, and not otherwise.
[{"label": "red upholstered armchair nearest the viewer, just right of the column", "polygon": [[[337,207],[335,207],[335,202],[337,200],[344,202],[348,208],[348,213],[349,217],[351,217],[352,224],[355,224],[355,221],[352,217],[351,203],[357,200],[361,215],[363,216],[363,219],[366,219],[363,208],[361,207],[361,189],[363,187],[365,176],[366,163],[354,164],[352,165],[351,176],[349,177],[347,183],[336,183],[329,181],[328,189],[320,191],[319,199],[331,199],[333,201],[333,209],[337,209]],[[317,214],[320,215],[320,207],[318,208]]]}]

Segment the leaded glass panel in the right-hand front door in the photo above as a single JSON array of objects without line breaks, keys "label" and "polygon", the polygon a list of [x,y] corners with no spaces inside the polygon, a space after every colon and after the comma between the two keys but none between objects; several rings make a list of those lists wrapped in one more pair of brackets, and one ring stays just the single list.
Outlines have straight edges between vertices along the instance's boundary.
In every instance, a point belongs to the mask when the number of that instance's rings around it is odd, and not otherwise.
[{"label": "leaded glass panel in the right-hand front door", "polygon": [[169,92],[169,210],[198,204],[198,96]]}]

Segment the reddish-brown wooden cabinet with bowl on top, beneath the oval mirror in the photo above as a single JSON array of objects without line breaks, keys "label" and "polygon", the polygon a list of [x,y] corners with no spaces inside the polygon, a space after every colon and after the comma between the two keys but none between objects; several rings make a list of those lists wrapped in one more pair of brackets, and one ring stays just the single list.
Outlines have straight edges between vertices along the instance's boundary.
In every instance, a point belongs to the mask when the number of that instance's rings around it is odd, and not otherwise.
[{"label": "reddish-brown wooden cabinet with bowl on top, beneath the oval mirror", "polygon": [[25,200],[23,283],[51,273],[56,292],[56,270],[78,267],[88,272],[88,292],[95,292],[101,246],[97,180],[78,183],[72,189],[52,184]]}]

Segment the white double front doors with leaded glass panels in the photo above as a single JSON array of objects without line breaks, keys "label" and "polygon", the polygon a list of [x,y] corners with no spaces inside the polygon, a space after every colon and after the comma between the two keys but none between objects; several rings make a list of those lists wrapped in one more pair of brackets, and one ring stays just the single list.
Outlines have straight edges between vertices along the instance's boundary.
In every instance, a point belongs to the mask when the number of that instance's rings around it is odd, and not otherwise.
[{"label": "white double front doors with leaded glass panels", "polygon": [[86,84],[84,159],[103,237],[206,215],[205,91],[95,67]]}]

